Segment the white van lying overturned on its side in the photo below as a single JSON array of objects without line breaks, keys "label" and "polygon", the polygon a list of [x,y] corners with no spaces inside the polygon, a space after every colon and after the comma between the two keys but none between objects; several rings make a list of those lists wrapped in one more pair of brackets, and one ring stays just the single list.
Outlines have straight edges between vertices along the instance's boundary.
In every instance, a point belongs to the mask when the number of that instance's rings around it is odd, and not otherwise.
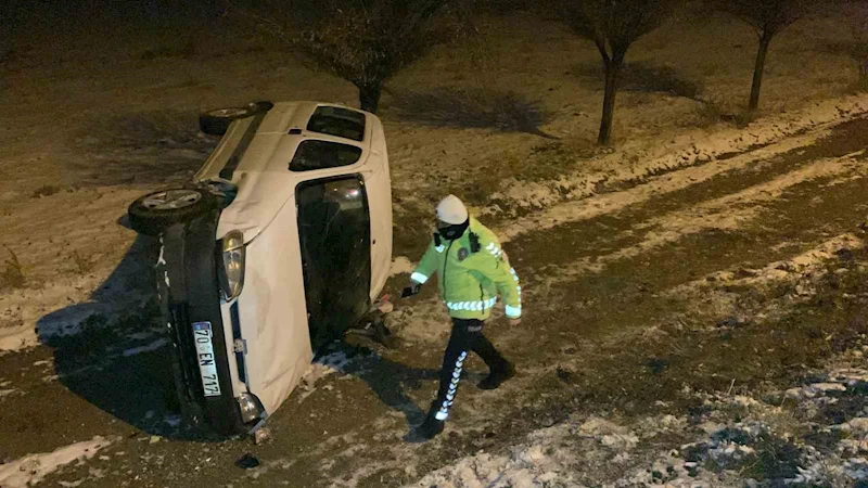
[{"label": "white van lying overturned on its side", "polygon": [[222,139],[193,181],[128,213],[161,239],[157,288],[184,413],[243,434],[382,291],[388,156],[376,116],[331,104],[257,102],[200,123]]}]

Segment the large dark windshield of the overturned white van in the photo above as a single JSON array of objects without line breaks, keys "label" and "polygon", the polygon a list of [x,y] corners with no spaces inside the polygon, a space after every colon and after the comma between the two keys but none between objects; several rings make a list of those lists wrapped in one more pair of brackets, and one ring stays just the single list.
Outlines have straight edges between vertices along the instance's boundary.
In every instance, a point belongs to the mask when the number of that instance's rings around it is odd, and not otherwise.
[{"label": "large dark windshield of the overturned white van", "polygon": [[371,216],[360,175],[296,188],[310,345],[356,325],[370,307]]}]

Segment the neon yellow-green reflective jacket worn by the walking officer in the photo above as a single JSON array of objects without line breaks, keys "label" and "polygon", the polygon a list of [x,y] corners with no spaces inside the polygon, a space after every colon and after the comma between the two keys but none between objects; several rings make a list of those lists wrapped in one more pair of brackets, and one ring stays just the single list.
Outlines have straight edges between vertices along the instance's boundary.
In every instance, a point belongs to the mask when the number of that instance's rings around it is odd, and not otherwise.
[{"label": "neon yellow-green reflective jacket worn by the walking officer", "polygon": [[438,245],[432,239],[410,279],[424,284],[435,272],[449,316],[485,320],[500,295],[507,317],[521,317],[519,275],[509,266],[497,236],[476,219],[471,217],[468,230],[455,241],[443,239]]}]

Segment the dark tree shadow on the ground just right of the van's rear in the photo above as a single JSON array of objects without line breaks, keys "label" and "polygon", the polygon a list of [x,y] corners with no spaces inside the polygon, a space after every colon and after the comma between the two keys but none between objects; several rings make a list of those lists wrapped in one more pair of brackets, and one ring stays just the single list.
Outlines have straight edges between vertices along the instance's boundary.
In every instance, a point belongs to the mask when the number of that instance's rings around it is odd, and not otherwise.
[{"label": "dark tree shadow on the ground just right of the van's rear", "polygon": [[524,132],[548,139],[540,127],[551,120],[545,107],[515,92],[437,88],[390,91],[386,113],[400,120],[433,127]]}]

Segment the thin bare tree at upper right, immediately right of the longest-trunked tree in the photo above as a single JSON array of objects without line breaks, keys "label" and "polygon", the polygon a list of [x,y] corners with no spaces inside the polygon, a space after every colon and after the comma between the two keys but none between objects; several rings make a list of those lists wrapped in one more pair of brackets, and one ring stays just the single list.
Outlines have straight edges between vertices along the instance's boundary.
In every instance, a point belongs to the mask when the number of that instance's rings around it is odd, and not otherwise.
[{"label": "thin bare tree at upper right, immediately right of the longest-trunked tree", "polygon": [[760,36],[760,48],[753,69],[749,112],[760,106],[760,89],[763,85],[763,70],[771,39],[807,12],[809,0],[720,0],[718,5],[725,12],[750,24]]}]

